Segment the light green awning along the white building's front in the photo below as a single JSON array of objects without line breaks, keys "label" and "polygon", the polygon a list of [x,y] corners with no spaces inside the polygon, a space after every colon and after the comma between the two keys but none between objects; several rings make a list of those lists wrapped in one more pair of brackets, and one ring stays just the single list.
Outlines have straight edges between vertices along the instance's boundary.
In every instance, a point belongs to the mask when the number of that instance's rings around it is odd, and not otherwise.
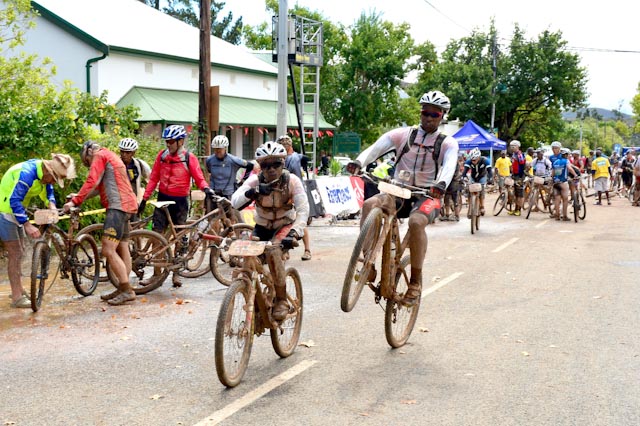
[{"label": "light green awning along the white building's front", "polygon": [[[133,105],[140,109],[139,122],[145,123],[197,123],[198,93],[183,90],[133,87],[120,99],[118,107]],[[288,108],[287,124],[297,128],[296,110]],[[276,127],[277,102],[260,99],[220,96],[220,125]],[[312,124],[307,123],[307,128]],[[320,129],[335,129],[320,115]]]}]

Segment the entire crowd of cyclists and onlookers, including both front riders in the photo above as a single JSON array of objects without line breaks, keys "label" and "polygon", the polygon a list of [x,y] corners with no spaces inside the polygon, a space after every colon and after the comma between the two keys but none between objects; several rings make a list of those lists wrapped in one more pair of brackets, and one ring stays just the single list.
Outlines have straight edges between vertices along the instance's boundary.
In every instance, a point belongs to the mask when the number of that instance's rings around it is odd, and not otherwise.
[{"label": "entire crowd of cyclists and onlookers, including both front riders", "polygon": [[[371,194],[364,201],[361,223],[376,207],[393,209],[399,218],[408,218],[409,249],[411,251],[411,275],[404,303],[415,303],[422,285],[422,265],[427,250],[425,228],[436,218],[460,219],[459,192],[465,183],[480,183],[483,187],[495,182],[500,191],[505,180],[514,181],[515,208],[510,212],[520,216],[524,206],[525,181],[529,177],[545,178],[553,188],[555,203],[551,216],[556,220],[567,217],[570,185],[579,182],[593,186],[596,204],[603,203],[603,196],[611,204],[612,180],[621,179],[621,194],[636,187],[633,205],[640,201],[640,156],[629,151],[624,158],[617,154],[606,157],[598,148],[590,156],[580,151],[571,152],[560,142],[551,144],[552,153],[545,155],[541,149],[522,151],[518,140],[509,143],[509,150],[501,151],[492,166],[489,158],[476,148],[468,154],[460,153],[457,141],[439,131],[444,115],[450,110],[449,98],[439,91],[427,92],[419,100],[420,124],[400,127],[380,136],[356,160],[347,165],[351,173],[358,173],[363,165],[375,164],[374,174],[391,175],[412,186],[426,188],[430,196],[397,201],[387,205],[388,197]],[[255,161],[238,158],[228,152],[229,140],[219,135],[211,141],[213,153],[204,164],[209,173],[205,180],[198,158],[185,147],[187,132],[181,125],[164,129],[162,139],[166,147],[161,149],[151,167],[135,157],[138,143],[135,139],[120,141],[120,155],[88,141],[82,147],[82,163],[89,168],[86,181],[78,194],[63,206],[64,211],[80,206],[89,196],[100,195],[106,209],[102,254],[118,279],[115,290],[102,294],[102,300],[121,305],[135,300],[129,283],[131,255],[127,243],[129,221],[140,215],[147,201],[157,191],[158,201],[172,201],[169,206],[171,220],[176,225],[186,223],[192,182],[207,195],[223,196],[240,210],[255,203],[254,235],[260,240],[271,240],[282,247],[291,248],[293,241],[302,239],[302,260],[311,259],[309,233],[309,203],[302,179],[302,170],[308,158],[293,150],[293,141],[283,135],[277,141],[260,145]],[[392,161],[376,162],[383,154],[392,152]],[[326,172],[330,156],[323,155],[321,169]],[[238,181],[238,171],[244,169]],[[619,172],[619,174],[618,174]],[[30,307],[27,293],[20,283],[20,260],[23,256],[20,239],[26,233],[38,238],[40,232],[27,217],[25,207],[33,197],[39,197],[48,208],[56,209],[53,184],[64,185],[65,179],[75,178],[73,159],[65,154],[52,154],[50,160],[33,159],[16,164],[7,170],[0,183],[0,239],[4,242],[8,257],[8,275],[11,283],[11,306]],[[577,179],[582,176],[581,179]],[[485,214],[485,191],[480,194],[480,213]],[[444,205],[441,203],[444,201]],[[208,209],[213,208],[209,205]],[[167,229],[163,211],[153,213],[153,230],[163,233]],[[285,250],[286,251],[286,250]],[[268,259],[276,277],[276,304],[274,316],[283,318],[289,309],[283,283],[282,256],[274,252]],[[375,275],[375,270],[373,271]],[[375,280],[370,277],[370,280]],[[173,285],[181,285],[180,276],[174,272]]]}]

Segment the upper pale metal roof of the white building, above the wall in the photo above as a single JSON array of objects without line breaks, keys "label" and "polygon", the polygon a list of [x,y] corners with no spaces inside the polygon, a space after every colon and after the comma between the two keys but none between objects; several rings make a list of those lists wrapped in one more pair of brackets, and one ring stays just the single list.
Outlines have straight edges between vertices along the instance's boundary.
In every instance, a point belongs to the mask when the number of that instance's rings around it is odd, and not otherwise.
[{"label": "upper pale metal roof of the white building, above the wall", "polygon": [[[198,61],[200,31],[138,0],[38,0],[43,18],[103,53],[122,51]],[[244,47],[211,36],[214,66],[277,76],[278,70]]]}]

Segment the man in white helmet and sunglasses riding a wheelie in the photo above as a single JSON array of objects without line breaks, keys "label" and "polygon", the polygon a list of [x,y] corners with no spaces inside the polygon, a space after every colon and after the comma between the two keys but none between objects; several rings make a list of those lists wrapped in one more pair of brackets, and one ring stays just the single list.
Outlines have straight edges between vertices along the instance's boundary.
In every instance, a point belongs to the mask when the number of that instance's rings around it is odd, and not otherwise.
[{"label": "man in white helmet and sunglasses riding a wheelie", "polygon": [[[425,227],[438,217],[439,198],[451,183],[458,167],[458,142],[438,131],[443,115],[451,109],[449,98],[439,91],[431,91],[422,95],[420,104],[420,126],[400,127],[385,133],[347,165],[350,173],[356,173],[363,164],[370,164],[394,150],[397,159],[394,178],[408,176],[407,184],[422,188],[431,186],[431,193],[438,197],[412,197],[399,201],[397,205],[389,205],[391,198],[376,195],[365,200],[362,206],[361,225],[376,207],[383,211],[397,209],[399,218],[409,218],[411,278],[403,301],[407,305],[415,304],[421,294],[422,264],[427,252]],[[375,274],[375,269],[372,269],[369,281],[375,281]]]}]

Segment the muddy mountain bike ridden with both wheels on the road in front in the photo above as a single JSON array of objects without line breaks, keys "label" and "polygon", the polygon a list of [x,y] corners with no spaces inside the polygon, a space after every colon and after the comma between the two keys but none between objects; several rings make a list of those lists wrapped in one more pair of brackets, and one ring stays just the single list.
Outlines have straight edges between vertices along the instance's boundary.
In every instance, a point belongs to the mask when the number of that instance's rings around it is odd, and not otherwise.
[{"label": "muddy mountain bike ridden with both wheels on the road in front", "polygon": [[[229,254],[242,258],[242,263],[236,268],[235,278],[224,295],[216,322],[216,372],[220,382],[227,387],[234,387],[242,380],[254,336],[268,330],[273,349],[281,358],[286,358],[295,351],[302,328],[302,281],[298,271],[295,268],[285,270],[289,313],[284,320],[276,321],[271,315],[275,284],[267,264],[282,261],[279,253],[268,254],[281,246],[256,241],[249,235],[246,232],[245,237],[236,239],[229,246]],[[215,235],[204,235],[203,238],[225,240]],[[228,241],[228,237],[226,239]],[[280,259],[276,259],[278,256]]]}]

